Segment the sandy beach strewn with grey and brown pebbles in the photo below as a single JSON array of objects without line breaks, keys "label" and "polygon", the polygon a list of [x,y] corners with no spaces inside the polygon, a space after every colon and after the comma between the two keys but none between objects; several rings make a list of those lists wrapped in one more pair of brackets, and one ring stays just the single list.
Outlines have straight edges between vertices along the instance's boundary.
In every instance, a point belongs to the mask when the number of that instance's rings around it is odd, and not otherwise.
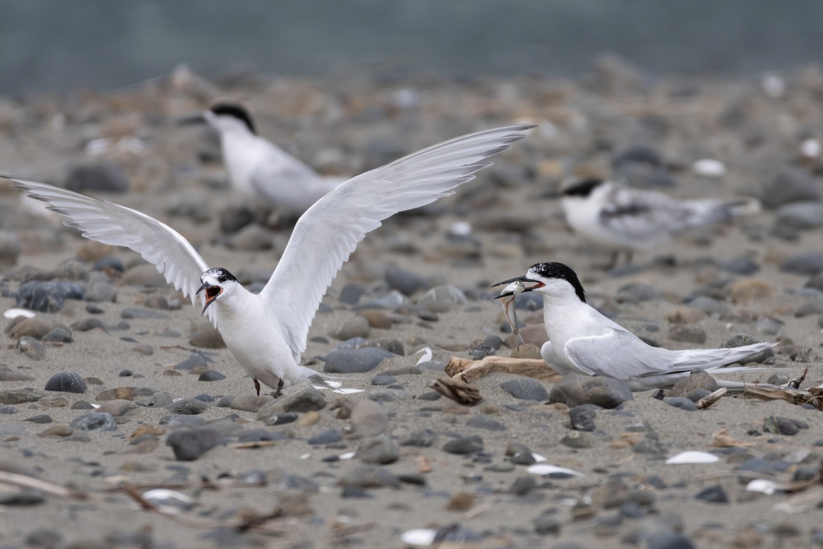
[{"label": "sandy beach strewn with grey and brown pebbles", "polygon": [[[346,395],[293,387],[277,401],[253,398],[230,352],[203,347],[219,337],[199,307],[142,258],[92,244],[0,182],[0,310],[20,306],[27,281],[83,292],[35,311],[48,333],[67,333],[53,341],[0,319],[0,473],[45,483],[0,478],[3,547],[820,547],[814,407],[728,394],[689,411],[645,391],[597,409],[593,430],[580,430],[565,404],[507,390],[517,375],[477,379],[474,406],[429,387],[450,357],[507,337],[489,286],[542,261],[570,265],[593,306],[662,347],[720,347],[739,333],[781,342],[765,370],[728,379],[788,381],[807,368],[802,388],[821,384],[823,163],[802,147],[823,137],[823,75],[780,77],[775,96],[756,79],[648,83],[620,72],[579,82],[261,76],[225,89],[188,74],[117,93],[2,100],[0,172],[62,186],[77,166],[117,165],[128,192],[84,192],[164,221],[247,286],[267,281],[290,226],[268,216],[221,230],[244,204],[214,135],[179,128],[179,117],[241,101],[264,137],[341,175],[463,133],[538,124],[455,196],[386,221],[343,266],[304,364],[323,371],[365,310],[377,312],[353,331],[365,339],[357,347],[391,351],[373,369],[335,374],[362,389]],[[700,173],[695,162],[707,158],[724,173]],[[607,254],[566,227],[556,186],[570,174],[618,173],[676,198],[749,196],[765,207],[607,272],[593,268]],[[793,222],[788,203],[811,213]],[[416,289],[402,295],[398,280]],[[444,285],[456,289],[451,299],[425,297]],[[697,295],[712,307],[691,306]],[[518,319],[540,324],[542,312]],[[418,364],[426,348],[432,361]],[[45,389],[65,372],[85,391]],[[528,384],[546,394],[553,385]],[[101,409],[110,425],[90,425],[86,415]],[[797,429],[769,432],[774,418]],[[215,444],[178,459],[169,442],[187,430],[207,430]],[[666,463],[687,450],[718,459]],[[576,474],[528,472],[531,454]],[[754,479],[774,493],[753,491]],[[146,500],[156,488],[182,499]]]}]

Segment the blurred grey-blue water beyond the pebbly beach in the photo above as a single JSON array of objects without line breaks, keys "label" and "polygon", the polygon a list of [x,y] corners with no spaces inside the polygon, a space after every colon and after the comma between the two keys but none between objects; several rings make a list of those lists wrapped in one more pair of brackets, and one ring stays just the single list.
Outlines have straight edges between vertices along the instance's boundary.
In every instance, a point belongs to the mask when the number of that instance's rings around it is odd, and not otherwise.
[{"label": "blurred grey-blue water beyond the pebbly beach", "polygon": [[603,52],[651,75],[816,63],[819,0],[0,0],[0,93],[390,67],[578,77]]}]

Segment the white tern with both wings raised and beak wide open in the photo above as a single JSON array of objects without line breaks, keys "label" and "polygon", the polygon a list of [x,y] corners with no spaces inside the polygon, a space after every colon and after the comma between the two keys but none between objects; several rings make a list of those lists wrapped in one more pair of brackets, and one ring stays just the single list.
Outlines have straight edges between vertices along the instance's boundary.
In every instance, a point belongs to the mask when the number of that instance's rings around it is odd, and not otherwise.
[{"label": "white tern with both wings raised and beak wide open", "polygon": [[48,184],[5,176],[16,188],[69,217],[86,238],[125,246],[154,263],[166,281],[216,325],[231,354],[260,393],[304,379],[322,381],[300,365],[309,326],[337,271],[366,233],[397,212],[453,194],[491,165],[489,157],[525,137],[522,124],[457,137],[360,174],[335,188],[300,216],[286,249],[259,294],[247,291],[225,268],[210,268],[177,231],[128,207]]}]

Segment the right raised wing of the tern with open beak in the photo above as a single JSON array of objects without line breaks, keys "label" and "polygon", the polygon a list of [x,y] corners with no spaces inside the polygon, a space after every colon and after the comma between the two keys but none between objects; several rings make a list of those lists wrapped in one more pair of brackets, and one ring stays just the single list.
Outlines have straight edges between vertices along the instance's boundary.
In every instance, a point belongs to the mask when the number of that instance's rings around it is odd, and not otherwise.
[{"label": "right raised wing of the tern with open beak", "polygon": [[472,133],[412,153],[349,179],[300,216],[277,269],[260,292],[277,310],[295,360],[305,351],[323,294],[367,232],[397,212],[453,194],[453,188],[491,165],[489,156],[523,139],[523,131],[532,127]]}]

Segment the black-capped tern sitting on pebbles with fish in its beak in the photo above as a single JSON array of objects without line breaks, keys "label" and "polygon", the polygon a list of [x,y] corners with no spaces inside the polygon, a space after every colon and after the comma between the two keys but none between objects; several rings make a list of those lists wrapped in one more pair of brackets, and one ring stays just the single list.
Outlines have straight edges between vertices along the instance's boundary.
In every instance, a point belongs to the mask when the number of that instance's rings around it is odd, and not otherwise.
[{"label": "black-capped tern sitting on pebbles with fish in its beak", "polygon": [[[603,375],[624,379],[633,391],[663,388],[686,378],[691,370],[709,373],[751,370],[723,367],[744,361],[774,347],[774,343],[753,343],[723,349],[671,351],[652,347],[620,324],[607,319],[586,303],[586,294],[577,274],[563,263],[537,263],[524,277],[498,282],[494,286],[523,282],[499,297],[520,291],[536,291],[543,298],[543,322],[549,341],[540,354],[559,374]],[[723,386],[723,380],[718,379]],[[737,388],[733,382],[729,387]]]}]

